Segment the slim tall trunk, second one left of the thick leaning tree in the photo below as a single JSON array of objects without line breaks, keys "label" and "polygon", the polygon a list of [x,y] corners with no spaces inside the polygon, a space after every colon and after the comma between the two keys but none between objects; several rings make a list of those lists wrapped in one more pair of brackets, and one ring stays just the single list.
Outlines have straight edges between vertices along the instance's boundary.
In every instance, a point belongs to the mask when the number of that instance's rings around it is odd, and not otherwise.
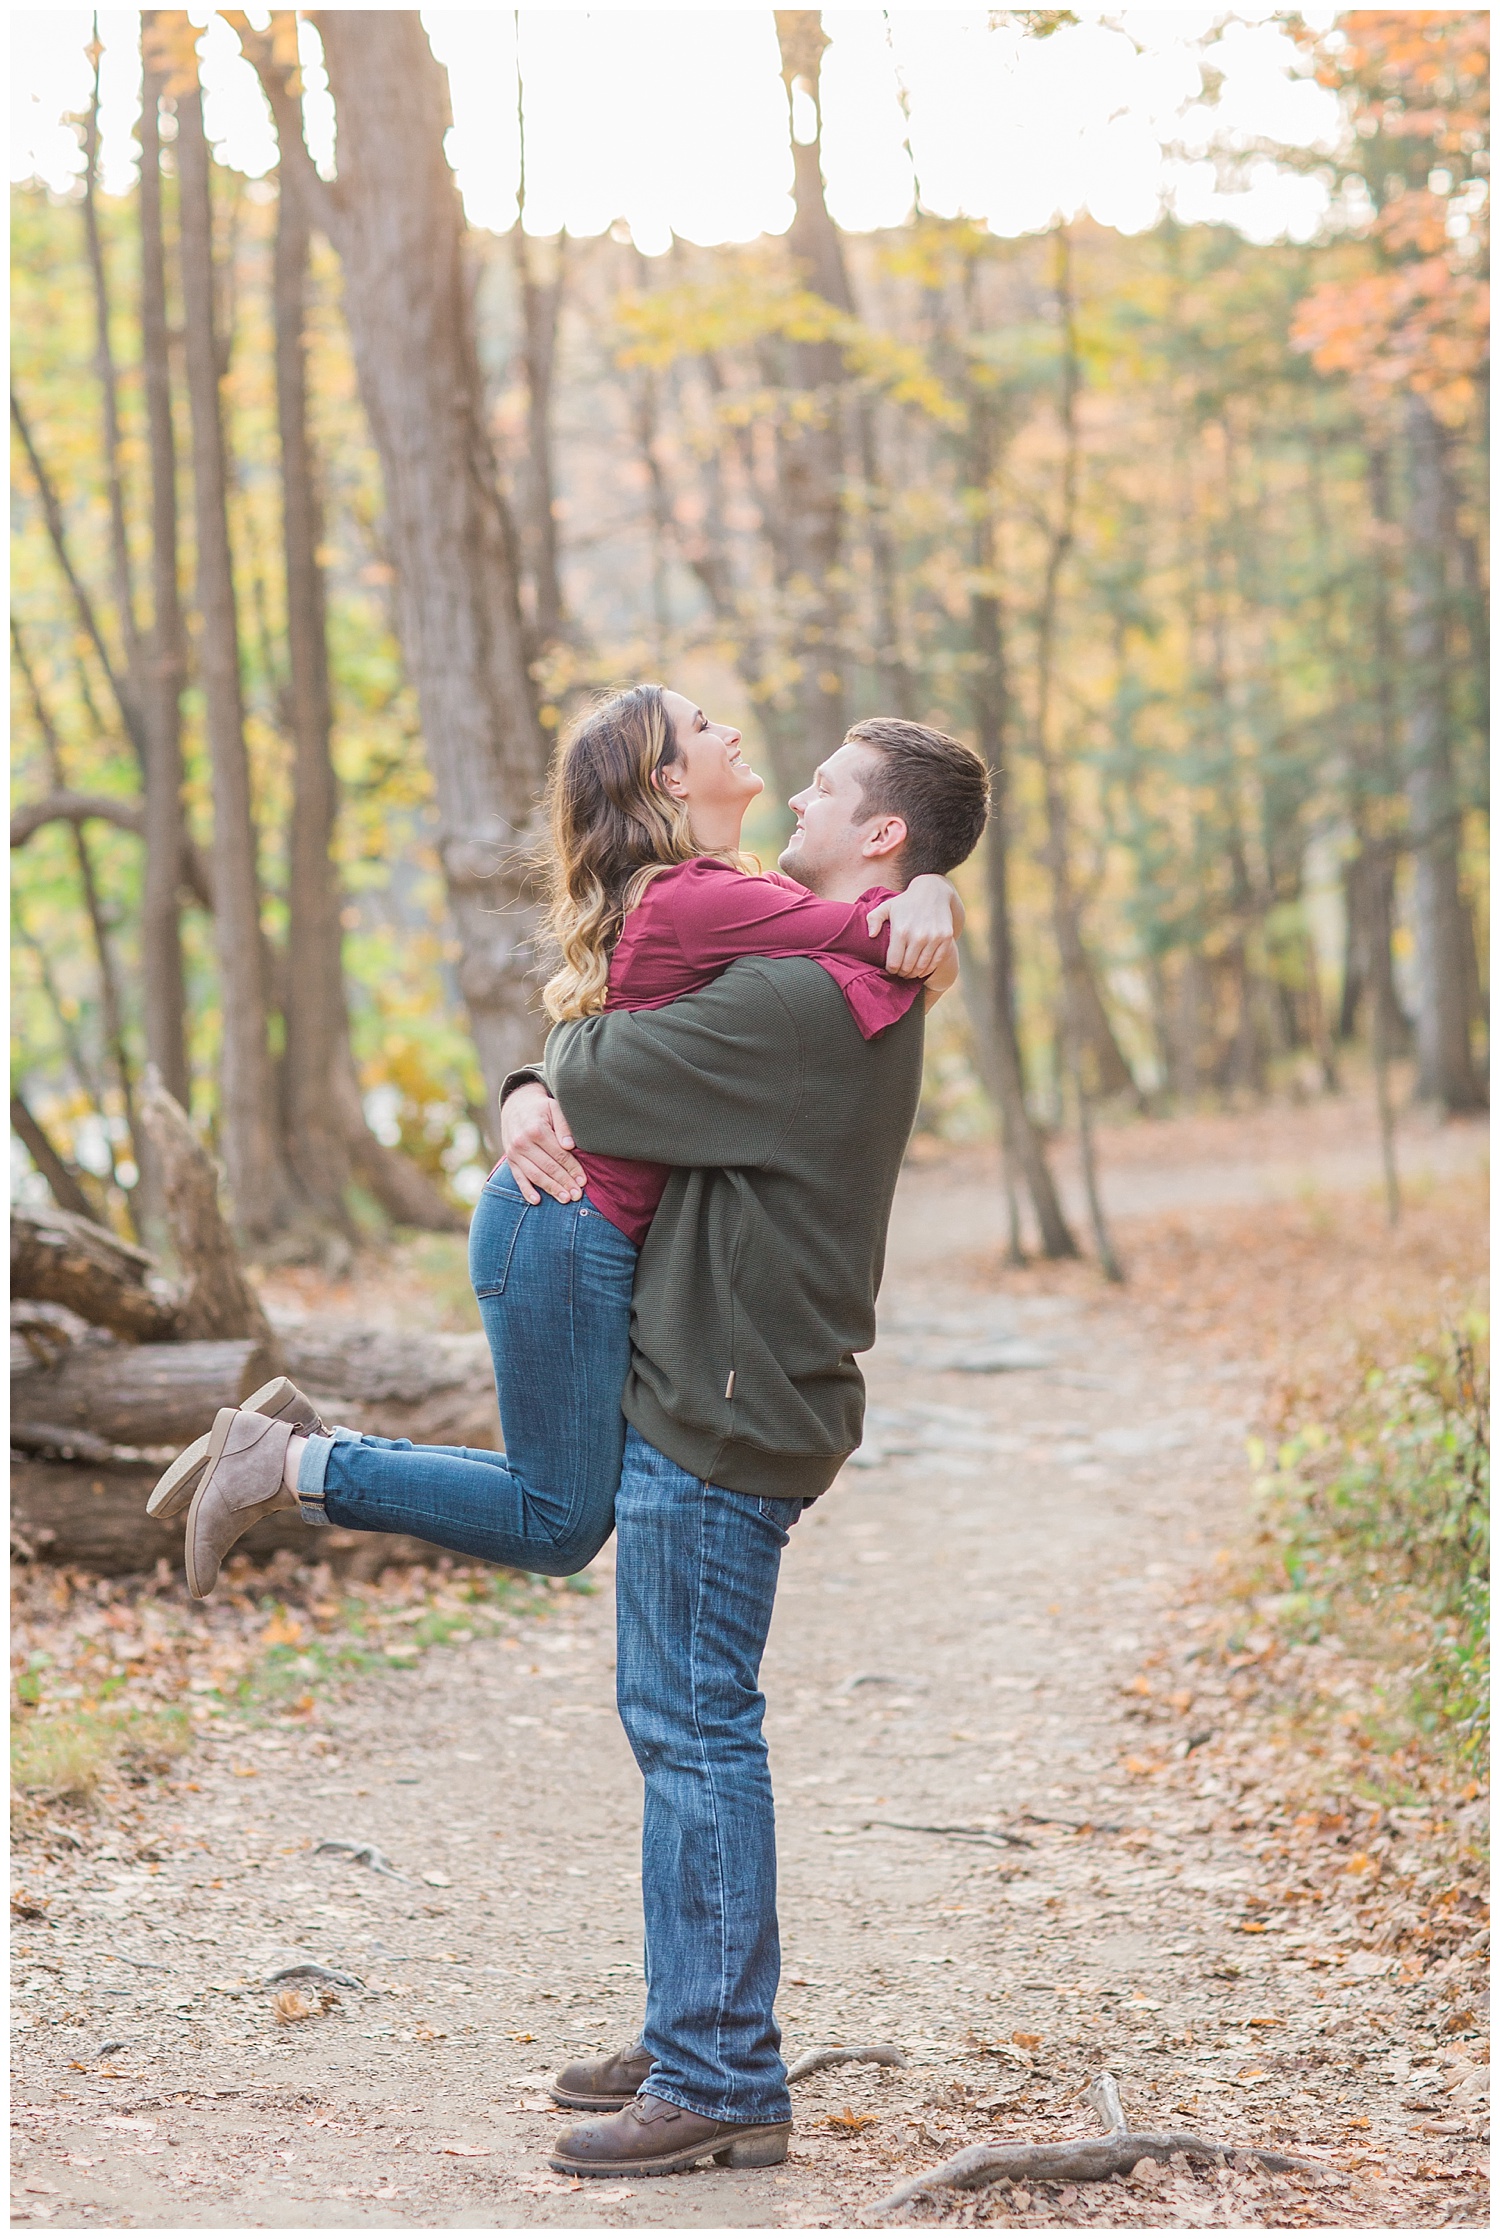
[{"label": "slim tall trunk, second one left of the thick leaning tree", "polygon": [[193,405],[199,669],[213,766],[215,943],[224,1019],[219,1113],[235,1218],[249,1238],[264,1240],[287,1225],[291,1189],[278,1149],[269,1048],[251,763],[240,694],[240,622],[228,549],[228,472],[219,416],[213,199],[204,101],[197,85],[177,101],[177,168],[184,358]]}]

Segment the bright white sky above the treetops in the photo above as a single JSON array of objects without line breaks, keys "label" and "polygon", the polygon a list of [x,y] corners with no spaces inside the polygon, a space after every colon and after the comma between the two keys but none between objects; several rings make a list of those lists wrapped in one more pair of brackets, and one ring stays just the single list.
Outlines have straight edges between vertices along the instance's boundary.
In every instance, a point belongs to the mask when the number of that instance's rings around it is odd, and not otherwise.
[{"label": "bright white sky above the treetops", "polygon": [[[193,9],[195,22],[210,22]],[[262,11],[251,11],[264,20]],[[1216,110],[1200,103],[1196,40],[1218,9],[1079,11],[1048,40],[990,29],[990,11],[833,9],[824,29],[824,172],[828,206],[851,231],[893,226],[922,206],[1028,233],[1054,213],[1088,210],[1137,233],[1166,204],[1187,222],[1229,219],[1251,240],[1305,240],[1325,195],[1316,179],[1260,163],[1245,193],[1216,188],[1213,134],[1312,146],[1337,125],[1332,94],[1296,74],[1269,7],[1243,7],[1213,47]],[[1332,11],[1316,11],[1328,22]],[[1247,20],[1260,18],[1260,20]],[[90,99],[85,9],[11,11],[11,177],[58,193],[81,168],[63,123]],[[448,65],[450,157],[470,222],[515,222],[517,34],[510,9],[425,9]],[[103,179],[132,181],[141,74],[134,11],[101,11]],[[307,60],[316,65],[316,40]],[[656,255],[676,231],[692,242],[743,242],[790,222],[786,96],[770,9],[629,7],[522,9],[526,87],[526,226],[591,235],[625,217]],[[213,18],[204,40],[208,134],[219,159],[260,177],[275,139],[233,31]],[[911,157],[902,92],[911,119]],[[309,69],[313,154],[331,161],[331,112]],[[1166,146],[1175,146],[1166,154]]]}]

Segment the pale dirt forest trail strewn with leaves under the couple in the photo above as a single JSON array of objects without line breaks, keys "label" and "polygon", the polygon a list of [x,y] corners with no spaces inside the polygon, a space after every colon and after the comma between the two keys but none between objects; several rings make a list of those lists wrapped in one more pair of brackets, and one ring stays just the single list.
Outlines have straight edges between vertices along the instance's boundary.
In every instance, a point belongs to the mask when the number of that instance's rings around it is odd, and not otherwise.
[{"label": "pale dirt forest trail strewn with leaves under the couple", "polygon": [[[1229,1164],[1265,1167],[1236,1142]],[[1433,1155],[1478,1164],[1482,1137]],[[1189,1164],[1162,1155],[1153,1187]],[[222,1733],[83,1852],[18,1858],[56,1923],[18,1930],[18,2219],[844,2226],[969,2138],[1093,2132],[1079,2091],[1110,2067],[1137,2127],[1341,2181],[1169,2172],[943,2219],[1482,2226],[1471,2053],[1346,1883],[1276,1910],[1287,1870],[1220,1758],[1227,1688],[1140,1679],[1243,1520],[1263,1368],[1093,1278],[996,1292],[999,1238],[978,1153],[907,1169],[866,1446],[793,1534],[766,1659],[788,2055],[896,2042],[907,2067],[797,2085],[781,2170],[546,2170],[546,2073],[640,2015],[604,1558],[596,1596]],[[338,1838],[407,1879],[313,1856]],[[278,2026],[262,1984],[296,1959],[363,1988]]]}]

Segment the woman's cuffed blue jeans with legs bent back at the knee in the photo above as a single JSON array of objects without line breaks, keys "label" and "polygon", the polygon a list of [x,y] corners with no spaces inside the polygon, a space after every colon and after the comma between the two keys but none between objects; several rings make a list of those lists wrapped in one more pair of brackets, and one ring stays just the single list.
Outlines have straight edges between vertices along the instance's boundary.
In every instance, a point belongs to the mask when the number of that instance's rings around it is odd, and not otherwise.
[{"label": "woman's cuffed blue jeans with legs bent back at the knee", "polygon": [[613,1529],[636,1247],[587,1200],[526,1205],[497,1167],[475,1207],[468,1272],[506,1451],[336,1428],[302,1453],[302,1514],[569,1578]]}]

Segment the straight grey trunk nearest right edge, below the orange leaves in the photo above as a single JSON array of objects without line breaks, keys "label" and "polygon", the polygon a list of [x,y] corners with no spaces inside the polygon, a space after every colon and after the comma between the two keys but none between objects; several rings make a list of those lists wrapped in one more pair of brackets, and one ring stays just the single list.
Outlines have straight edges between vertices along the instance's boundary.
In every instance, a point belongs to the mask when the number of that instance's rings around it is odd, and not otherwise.
[{"label": "straight grey trunk nearest right edge, below the orange leaves", "polygon": [[1415,851],[1417,1095],[1446,1113],[1480,1111],[1469,1048],[1464,900],[1457,889],[1460,802],[1449,741],[1446,553],[1442,430],[1422,396],[1406,399],[1406,802]]}]

